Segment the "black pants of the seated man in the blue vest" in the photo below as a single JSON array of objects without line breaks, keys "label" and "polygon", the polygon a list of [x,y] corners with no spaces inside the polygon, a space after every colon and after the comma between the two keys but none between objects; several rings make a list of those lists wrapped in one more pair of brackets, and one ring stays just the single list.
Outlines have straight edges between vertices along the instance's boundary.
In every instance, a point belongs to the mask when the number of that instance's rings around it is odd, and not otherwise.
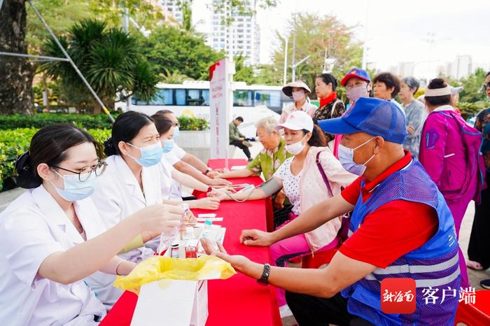
[{"label": "black pants of the seated man in the blue vest", "polygon": [[372,326],[374,324],[347,311],[347,299],[337,293],[330,299],[286,292],[286,302],[300,326]]}]

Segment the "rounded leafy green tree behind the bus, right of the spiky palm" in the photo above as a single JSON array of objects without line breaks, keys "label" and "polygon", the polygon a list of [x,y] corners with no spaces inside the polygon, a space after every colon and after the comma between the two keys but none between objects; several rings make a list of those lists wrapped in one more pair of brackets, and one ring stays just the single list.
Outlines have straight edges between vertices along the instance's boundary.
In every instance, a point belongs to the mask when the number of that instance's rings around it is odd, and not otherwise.
[{"label": "rounded leafy green tree behind the bus, right of the spiky palm", "polygon": [[200,35],[176,27],[159,27],[148,38],[139,37],[141,52],[157,73],[178,71],[195,80],[207,80],[209,66],[225,57],[206,45]]}]

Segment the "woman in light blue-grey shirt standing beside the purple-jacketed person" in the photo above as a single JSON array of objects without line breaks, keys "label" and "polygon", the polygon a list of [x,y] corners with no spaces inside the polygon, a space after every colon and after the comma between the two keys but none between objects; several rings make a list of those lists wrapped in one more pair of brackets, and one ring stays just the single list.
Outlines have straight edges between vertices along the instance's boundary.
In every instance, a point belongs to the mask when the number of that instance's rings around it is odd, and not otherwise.
[{"label": "woman in light blue-grey shirt standing beside the purple-jacketed person", "polygon": [[409,150],[413,157],[419,157],[420,134],[425,120],[425,107],[421,101],[414,98],[419,86],[419,81],[414,77],[405,77],[401,80],[400,93],[398,94],[405,110],[407,125],[407,137],[403,143],[403,148]]}]

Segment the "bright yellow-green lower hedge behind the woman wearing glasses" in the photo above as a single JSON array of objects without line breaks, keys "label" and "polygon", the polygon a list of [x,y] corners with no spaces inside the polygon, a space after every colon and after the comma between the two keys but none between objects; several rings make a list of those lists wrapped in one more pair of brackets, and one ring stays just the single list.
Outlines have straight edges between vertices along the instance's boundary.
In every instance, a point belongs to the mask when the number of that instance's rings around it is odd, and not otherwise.
[{"label": "bright yellow-green lower hedge behind the woman wearing glasses", "polygon": [[[0,191],[15,186],[15,160],[29,150],[31,138],[37,131],[38,128],[0,130]],[[111,129],[88,129],[87,132],[101,144],[111,136]]]}]

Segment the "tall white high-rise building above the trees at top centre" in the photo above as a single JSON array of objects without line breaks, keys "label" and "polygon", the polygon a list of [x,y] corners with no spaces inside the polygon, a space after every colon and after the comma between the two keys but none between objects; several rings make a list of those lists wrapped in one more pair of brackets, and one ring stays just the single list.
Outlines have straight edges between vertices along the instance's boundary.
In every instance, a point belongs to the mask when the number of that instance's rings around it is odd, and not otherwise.
[{"label": "tall white high-rise building above the trees at top centre", "polygon": [[[260,28],[253,15],[255,1],[247,1],[248,14],[224,8],[211,9],[211,31],[207,43],[215,50],[225,50],[230,56],[242,55],[245,64],[260,62]],[[227,21],[232,22],[227,25]]]}]

